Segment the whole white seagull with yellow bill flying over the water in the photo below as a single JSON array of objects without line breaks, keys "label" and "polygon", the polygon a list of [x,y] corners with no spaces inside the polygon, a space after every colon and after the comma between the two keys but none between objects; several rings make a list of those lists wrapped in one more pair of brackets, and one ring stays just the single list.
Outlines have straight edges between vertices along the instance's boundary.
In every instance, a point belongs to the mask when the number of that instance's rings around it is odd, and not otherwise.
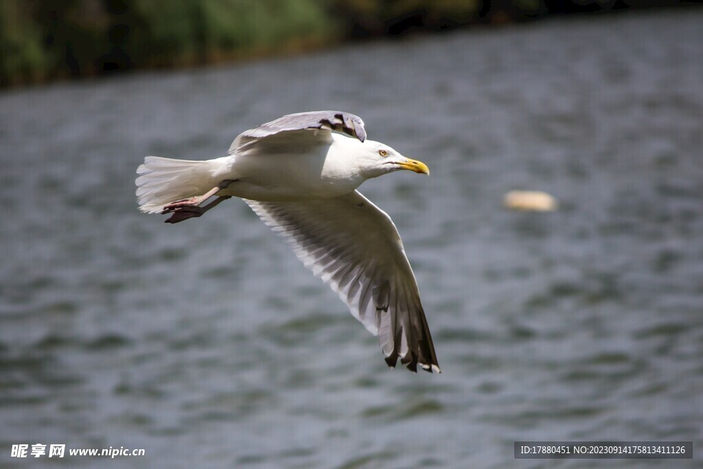
[{"label": "whole white seagull with yellow bill flying over the water", "polygon": [[356,190],[366,179],[400,169],[430,174],[425,163],[366,139],[360,117],[313,111],[244,131],[222,158],[148,156],[136,171],[136,196],[142,212],[169,214],[167,223],[242,198],[378,336],[388,366],[400,359],[411,371],[419,364],[440,373],[398,231]]}]

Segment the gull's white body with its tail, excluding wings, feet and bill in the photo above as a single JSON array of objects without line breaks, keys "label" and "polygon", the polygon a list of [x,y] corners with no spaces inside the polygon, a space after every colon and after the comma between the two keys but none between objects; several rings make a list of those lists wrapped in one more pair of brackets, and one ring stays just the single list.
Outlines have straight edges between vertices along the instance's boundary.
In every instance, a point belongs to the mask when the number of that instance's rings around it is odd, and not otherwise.
[{"label": "gull's white body with its tail, excluding wings, feet and bill", "polygon": [[[316,130],[309,130],[317,132]],[[291,145],[290,137],[273,142],[262,152],[238,151],[214,160],[172,160],[148,156],[137,169],[141,210],[157,213],[164,205],[207,192],[221,181],[233,181],[217,195],[259,201],[334,198],[348,194],[370,177],[383,174],[359,165],[364,155],[388,148],[371,140],[361,142],[340,134],[314,145]],[[293,142],[295,143],[295,142]]]}]

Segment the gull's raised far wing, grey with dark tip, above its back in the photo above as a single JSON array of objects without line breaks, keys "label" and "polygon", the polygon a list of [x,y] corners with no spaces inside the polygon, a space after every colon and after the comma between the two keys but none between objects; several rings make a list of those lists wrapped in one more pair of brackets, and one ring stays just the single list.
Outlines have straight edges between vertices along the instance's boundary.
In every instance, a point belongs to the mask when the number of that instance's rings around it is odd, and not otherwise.
[{"label": "gull's raised far wing, grey with dark tip, above its back", "polygon": [[[318,130],[316,132],[302,132],[305,130]],[[343,113],[342,111],[323,110],[309,113],[288,114],[279,117],[259,127],[243,131],[237,136],[229,147],[229,155],[238,150],[255,146],[259,141],[270,139],[282,133],[297,132],[304,136],[304,139],[323,139],[327,142],[330,139],[330,132],[344,132],[349,136],[356,137],[361,141],[366,140],[366,129],[363,127],[361,117]]]}]

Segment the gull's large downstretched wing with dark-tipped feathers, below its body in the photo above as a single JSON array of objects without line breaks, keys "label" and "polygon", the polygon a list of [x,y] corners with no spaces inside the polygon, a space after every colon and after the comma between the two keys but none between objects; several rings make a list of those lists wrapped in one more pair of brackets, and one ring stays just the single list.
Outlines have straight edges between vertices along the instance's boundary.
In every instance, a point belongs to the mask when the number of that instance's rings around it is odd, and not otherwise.
[{"label": "gull's large downstretched wing with dark-tipped feathers, below its body", "polygon": [[303,202],[246,200],[378,335],[389,366],[400,358],[439,373],[430,328],[403,242],[390,217],[358,191]]}]

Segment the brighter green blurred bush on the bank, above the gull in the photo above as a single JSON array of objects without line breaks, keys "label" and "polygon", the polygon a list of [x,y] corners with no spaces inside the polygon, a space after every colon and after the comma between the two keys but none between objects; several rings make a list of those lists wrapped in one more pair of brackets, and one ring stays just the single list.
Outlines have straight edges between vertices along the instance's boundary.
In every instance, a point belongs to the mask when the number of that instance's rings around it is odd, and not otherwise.
[{"label": "brighter green blurred bush on the bank, above the gull", "polygon": [[129,0],[128,5],[127,49],[138,65],[205,62],[330,34],[330,20],[316,0]]}]

